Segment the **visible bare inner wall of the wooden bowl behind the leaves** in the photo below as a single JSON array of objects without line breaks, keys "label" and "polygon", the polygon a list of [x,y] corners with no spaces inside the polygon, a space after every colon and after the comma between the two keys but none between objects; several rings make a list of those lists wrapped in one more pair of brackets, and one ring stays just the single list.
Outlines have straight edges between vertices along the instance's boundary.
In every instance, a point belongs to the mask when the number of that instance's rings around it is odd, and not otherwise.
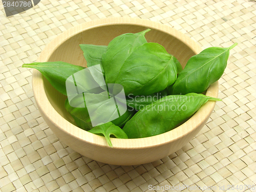
[{"label": "visible bare inner wall of the wooden bowl behind the leaves", "polygon": [[[81,31],[62,42],[50,55],[47,61],[65,61],[74,65],[86,67],[86,59],[80,49],[80,44],[105,45],[118,35],[123,33],[137,33],[147,27],[133,24],[114,24],[97,26]],[[145,35],[147,42],[157,42],[162,45],[169,54],[174,55],[184,68],[187,60],[196,53],[178,38],[159,29],[151,28]],[[56,91],[44,78],[44,87],[47,97],[53,108],[66,120],[74,124],[73,118],[66,111],[64,103],[66,96]]]}]

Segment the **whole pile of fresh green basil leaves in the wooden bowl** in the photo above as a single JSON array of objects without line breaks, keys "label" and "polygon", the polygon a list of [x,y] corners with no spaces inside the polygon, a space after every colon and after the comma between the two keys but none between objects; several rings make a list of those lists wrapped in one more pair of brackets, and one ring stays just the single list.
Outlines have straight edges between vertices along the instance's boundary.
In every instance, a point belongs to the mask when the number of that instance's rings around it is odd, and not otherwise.
[{"label": "whole pile of fresh green basil leaves in the wooden bowl", "polygon": [[[220,100],[201,93],[223,75],[229,51],[237,45],[207,48],[192,56],[182,69],[180,62],[163,46],[146,41],[148,31],[150,29],[122,34],[108,46],[80,45],[87,67],[100,64],[106,84],[123,86],[128,110],[111,122],[93,127],[87,108],[74,108],[68,99],[65,108],[77,126],[105,136],[111,147],[111,135],[122,139],[159,135],[174,129],[208,100]],[[23,67],[40,71],[57,91],[66,96],[66,80],[84,69],[62,61],[34,62]],[[79,96],[78,100],[81,100]],[[167,107],[168,110],[163,110]],[[104,113],[112,110],[102,109]]]}]

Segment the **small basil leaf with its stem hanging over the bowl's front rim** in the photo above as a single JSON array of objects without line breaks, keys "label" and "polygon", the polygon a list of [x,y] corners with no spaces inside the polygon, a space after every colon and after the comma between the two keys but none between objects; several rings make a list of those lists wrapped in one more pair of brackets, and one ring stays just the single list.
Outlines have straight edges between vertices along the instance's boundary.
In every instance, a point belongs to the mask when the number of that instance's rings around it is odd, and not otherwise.
[{"label": "small basil leaf with its stem hanging over the bowl's front rim", "polygon": [[124,131],[119,126],[114,125],[112,122],[97,125],[89,132],[104,135],[104,137],[106,138],[106,142],[108,142],[110,147],[113,147],[110,140],[110,135],[114,135],[116,138],[119,139],[128,139]]}]

